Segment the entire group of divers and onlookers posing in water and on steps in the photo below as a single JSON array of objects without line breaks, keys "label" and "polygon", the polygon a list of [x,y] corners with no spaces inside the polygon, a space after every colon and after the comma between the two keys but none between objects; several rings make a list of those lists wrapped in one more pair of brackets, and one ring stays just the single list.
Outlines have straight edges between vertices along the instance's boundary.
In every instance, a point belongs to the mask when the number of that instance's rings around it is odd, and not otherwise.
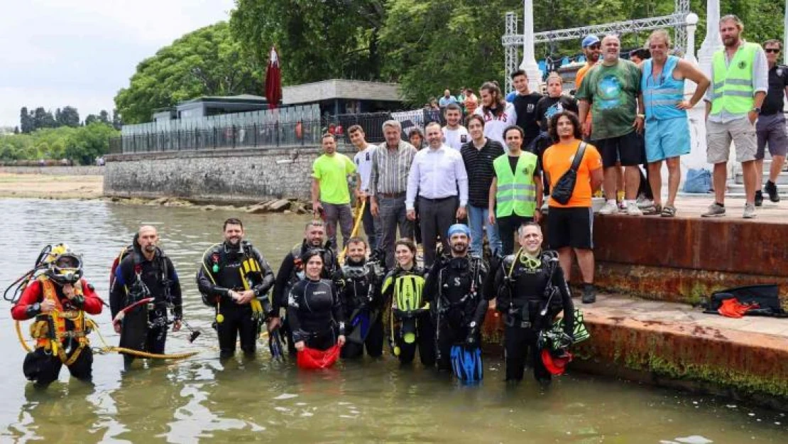
[{"label": "entire group of divers and onlookers posing in water and on steps", "polygon": [[[754,217],[762,200],[756,165],[766,144],[773,156],[766,191],[779,200],[775,179],[785,158],[782,96],[788,91],[788,71],[776,65],[780,43],[766,42],[764,53],[742,39],[737,17],[719,24],[725,47],[714,55],[711,79],[670,54],[663,30],[650,35],[650,58],[640,64],[619,57],[617,36],[588,35],[582,40],[587,65],[578,71],[574,97],[563,94],[557,74],[548,76],[543,96],[530,91],[526,73],[518,71],[511,76],[511,103],[496,82],[481,85],[472,111],[473,91],[463,88],[459,99],[446,90],[439,103],[446,125],[414,129],[408,141],[399,121],[385,121],[379,146],[366,142],[361,126],[351,126],[348,136],[358,150],[352,160],[336,152],[336,137],[327,132],[313,165],[315,218],[277,274],[244,240],[236,218],[225,221],[224,239],[200,259],[197,283],[215,311],[221,359],[235,354],[239,338],[243,353],[253,355],[265,326],[272,354],[282,353],[284,341],[299,365],[320,367],[365,351],[381,356],[388,339],[403,364],[418,352],[428,367],[478,381],[481,325],[492,305],[504,320],[507,380],[522,379],[529,356],[538,380],[560,374],[582,330],[567,284],[575,258],[581,300],[596,300],[593,195],[604,192],[602,214],[619,211],[623,192],[626,214],[643,215],[636,197],[646,165],[652,213],[674,217],[679,159],[690,150],[686,110],[706,101],[716,199],[704,216],[725,214],[731,140],[745,175],[744,217]],[[690,98],[686,80],[697,84]],[[664,204],[663,162],[669,174]],[[352,199],[348,177],[355,179]],[[351,201],[358,202],[366,240],[351,235]],[[540,226],[545,217],[547,239]],[[61,247],[39,260],[36,270],[43,273],[12,310],[14,319],[35,318],[39,326],[25,375],[46,386],[65,364],[76,378],[89,379],[85,313],[100,313],[102,301],[82,277],[80,256]],[[180,330],[184,314],[178,274],[154,227],[140,227],[113,275],[110,309],[121,345],[164,353],[169,326]],[[556,322],[559,314],[563,320]]]}]

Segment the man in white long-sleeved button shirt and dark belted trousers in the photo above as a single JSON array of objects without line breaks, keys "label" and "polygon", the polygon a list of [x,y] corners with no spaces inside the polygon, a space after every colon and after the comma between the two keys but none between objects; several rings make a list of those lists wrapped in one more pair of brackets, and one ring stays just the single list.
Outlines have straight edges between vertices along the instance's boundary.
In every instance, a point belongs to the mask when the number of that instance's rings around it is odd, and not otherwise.
[{"label": "man in white long-sleeved button shirt and dark belted trousers", "polygon": [[444,243],[444,251],[448,251],[448,227],[466,216],[468,175],[463,156],[443,143],[444,135],[439,123],[427,125],[426,137],[429,148],[416,153],[407,177],[405,207],[407,218],[415,220],[414,201],[418,193],[424,265],[431,267],[435,262],[437,235],[440,234]]}]

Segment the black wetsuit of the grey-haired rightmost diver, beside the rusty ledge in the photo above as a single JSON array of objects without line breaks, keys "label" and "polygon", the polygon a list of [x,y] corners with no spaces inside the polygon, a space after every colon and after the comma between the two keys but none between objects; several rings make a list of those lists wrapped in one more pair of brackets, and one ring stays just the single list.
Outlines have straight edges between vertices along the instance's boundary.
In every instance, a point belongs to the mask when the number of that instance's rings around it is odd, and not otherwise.
[{"label": "black wetsuit of the grey-haired rightmost diver, beside the rusty ledge", "polygon": [[[488,291],[497,292],[496,309],[504,315],[506,379],[522,380],[526,356],[530,354],[533,376],[538,381],[549,381],[551,375],[542,364],[537,339],[539,332],[550,329],[556,315],[562,311],[564,333],[571,337],[574,304],[569,285],[555,252],[541,253],[541,263],[533,269],[515,256],[506,256],[501,261],[493,286],[488,287]],[[553,291],[556,293],[550,300],[548,312],[542,316],[541,310],[548,304],[549,293]]]}]

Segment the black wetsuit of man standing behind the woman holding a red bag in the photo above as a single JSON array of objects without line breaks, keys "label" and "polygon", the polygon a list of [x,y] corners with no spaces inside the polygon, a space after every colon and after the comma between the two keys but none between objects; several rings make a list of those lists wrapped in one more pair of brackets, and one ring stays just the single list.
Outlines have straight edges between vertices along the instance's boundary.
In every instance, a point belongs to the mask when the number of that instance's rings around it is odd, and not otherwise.
[{"label": "black wetsuit of man standing behind the woman holding a red bag", "polygon": [[[308,245],[307,241],[304,240],[300,245],[293,247],[291,252],[289,252],[287,256],[284,256],[279,266],[279,271],[277,271],[277,280],[273,285],[273,297],[271,298],[271,303],[273,304],[273,317],[278,318],[281,308],[288,307],[288,293],[290,293],[290,289],[292,289],[292,286],[295,285],[296,282],[303,279],[303,261],[301,260],[301,256],[310,249],[322,249],[323,251],[323,271],[320,274],[321,278],[332,278],[334,271],[339,268],[339,264],[336,262],[336,253],[330,248],[330,244],[325,244],[323,248],[313,247]],[[291,330],[290,323],[288,322],[287,316],[285,316],[282,320],[282,333],[284,333],[284,338],[288,343],[288,351],[293,354],[296,353],[296,347],[293,345]]]}]

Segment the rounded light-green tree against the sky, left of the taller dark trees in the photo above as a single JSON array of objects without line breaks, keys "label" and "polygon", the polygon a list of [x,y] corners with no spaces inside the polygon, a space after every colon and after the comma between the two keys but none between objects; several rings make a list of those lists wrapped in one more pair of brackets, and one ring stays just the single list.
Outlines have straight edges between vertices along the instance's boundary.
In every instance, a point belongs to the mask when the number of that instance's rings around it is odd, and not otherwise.
[{"label": "rounded light-green tree against the sky, left of the taller dark trees", "polygon": [[140,62],[131,84],[115,96],[115,105],[125,123],[150,121],[157,108],[200,95],[261,94],[262,72],[262,65],[242,56],[229,25],[220,22],[184,35]]}]

